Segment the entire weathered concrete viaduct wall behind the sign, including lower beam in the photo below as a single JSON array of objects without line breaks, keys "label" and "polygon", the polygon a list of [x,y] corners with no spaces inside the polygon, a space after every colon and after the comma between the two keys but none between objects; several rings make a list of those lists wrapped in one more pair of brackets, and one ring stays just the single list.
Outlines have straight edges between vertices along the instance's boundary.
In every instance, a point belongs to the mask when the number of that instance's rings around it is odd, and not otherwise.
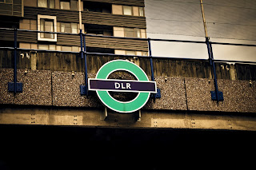
[{"label": "entire weathered concrete viaduct wall behind the sign, including lower beam", "polygon": [[[217,103],[211,100],[210,91],[214,90],[214,81],[209,67],[204,67],[206,63],[193,61],[196,65],[191,69],[187,69],[188,66],[182,69],[184,66],[181,66],[181,70],[171,71],[168,63],[166,65],[169,67],[166,68],[162,61],[155,61],[155,80],[162,97],[150,99],[140,113],[119,114],[107,110],[106,117],[105,108],[95,94],[90,97],[80,95],[79,85],[84,84],[82,71],[66,70],[67,66],[62,70],[51,69],[61,69],[60,65],[66,65],[65,58],[64,64],[52,62],[45,66],[49,69],[38,69],[42,60],[40,55],[36,54],[36,60],[26,58],[30,63],[26,65],[23,62],[24,68],[20,66],[18,69],[18,81],[23,83],[22,93],[14,95],[8,92],[7,83],[13,81],[13,69],[8,65],[0,69],[0,124],[256,130],[256,81],[238,80],[242,76],[237,73],[238,69],[231,70],[232,65],[224,65],[225,70],[231,68],[228,73],[218,73],[218,77],[224,77],[218,79],[224,101]],[[97,67],[110,59],[89,57],[91,65],[96,67],[89,67],[89,77],[95,77]],[[148,73],[147,61],[128,59],[137,62],[142,69],[147,68],[145,71]],[[19,63],[21,65],[22,62]],[[74,64],[72,60],[69,63]],[[187,73],[191,70],[195,71]],[[174,71],[176,75],[171,75]],[[197,71],[203,76],[197,76]],[[121,73],[118,77],[126,75]],[[247,77],[253,79],[254,70],[250,70]]]}]

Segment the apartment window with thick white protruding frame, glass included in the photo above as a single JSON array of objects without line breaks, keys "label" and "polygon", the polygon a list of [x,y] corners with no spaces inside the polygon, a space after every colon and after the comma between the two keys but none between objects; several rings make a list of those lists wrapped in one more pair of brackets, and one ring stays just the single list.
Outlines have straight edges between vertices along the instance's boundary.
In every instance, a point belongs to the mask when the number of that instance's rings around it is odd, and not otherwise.
[{"label": "apartment window with thick white protruding frame, glass included", "polygon": [[[46,32],[57,32],[56,17],[38,15],[38,30]],[[38,33],[38,41],[57,42],[57,34]]]}]

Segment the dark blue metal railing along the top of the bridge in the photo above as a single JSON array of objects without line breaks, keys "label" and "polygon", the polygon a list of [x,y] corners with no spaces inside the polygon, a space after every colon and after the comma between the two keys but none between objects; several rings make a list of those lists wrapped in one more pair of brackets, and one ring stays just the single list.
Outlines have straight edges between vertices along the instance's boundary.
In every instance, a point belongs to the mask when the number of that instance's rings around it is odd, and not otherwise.
[{"label": "dark blue metal railing along the top of the bridge", "polygon": [[[121,55],[114,53],[90,53],[86,51],[86,37],[97,37],[97,38],[118,38],[118,39],[128,39],[128,40],[142,40],[148,43],[149,56],[138,56],[132,55],[132,57],[146,57],[150,59],[150,69],[151,69],[151,80],[154,81],[154,68],[153,68],[153,58],[172,58],[172,59],[182,59],[182,60],[192,60],[192,61],[209,61],[212,66],[212,72],[214,75],[214,91],[211,91],[211,97],[214,101],[223,101],[224,97],[222,92],[218,91],[218,82],[216,75],[215,62],[236,62],[236,63],[246,63],[246,64],[256,64],[255,61],[230,61],[230,60],[215,60],[214,52],[212,45],[237,45],[237,46],[253,46],[252,44],[236,44],[236,43],[224,43],[224,42],[210,42],[209,38],[206,38],[205,42],[202,41],[188,41],[188,40],[172,40],[172,39],[158,39],[158,38],[121,38],[114,36],[103,36],[103,35],[94,35],[94,34],[83,34],[82,30],[80,30],[79,34],[70,34],[70,33],[60,33],[60,32],[48,32],[48,31],[38,31],[38,30],[20,30],[20,29],[9,29],[9,28],[0,28],[0,30],[12,30],[14,31],[14,47],[0,47],[0,49],[12,49],[14,50],[14,82],[8,83],[8,90],[10,92],[21,93],[22,92],[22,83],[17,82],[17,50],[35,50],[35,51],[45,51],[45,52],[56,52],[56,53],[80,53],[82,59],[85,60],[85,84],[81,85],[81,94],[88,96],[88,77],[87,77],[87,63],[86,57],[87,54],[96,54],[96,55],[110,55],[110,56],[121,56],[121,57],[131,57],[131,55]],[[48,34],[68,34],[68,35],[78,35],[80,37],[80,52],[72,52],[72,51],[58,51],[58,50],[47,50],[47,49],[23,49],[17,47],[17,34],[18,31],[26,31],[26,32],[35,32],[35,33],[48,33]],[[206,48],[208,51],[208,59],[202,58],[180,58],[180,57],[159,57],[152,55],[151,42],[180,42],[180,43],[196,43],[196,44],[206,44]],[[160,92],[159,92],[160,93]],[[156,96],[154,96],[156,97]]]}]

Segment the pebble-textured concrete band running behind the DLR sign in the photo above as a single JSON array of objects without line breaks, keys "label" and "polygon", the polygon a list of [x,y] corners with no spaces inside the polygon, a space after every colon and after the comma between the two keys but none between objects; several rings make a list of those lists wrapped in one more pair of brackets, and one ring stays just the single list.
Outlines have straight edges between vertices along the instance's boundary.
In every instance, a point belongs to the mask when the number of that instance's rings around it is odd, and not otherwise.
[{"label": "pebble-textured concrete band running behind the DLR sign", "polygon": [[[88,76],[94,78],[95,74]],[[84,84],[84,74],[80,72],[18,69],[23,92],[16,95],[7,89],[12,81],[13,69],[0,69],[0,104],[103,108],[96,96],[81,96],[79,86]],[[211,100],[211,79],[155,77],[155,81],[162,97],[150,99],[143,109],[256,113],[256,81],[218,80],[224,96],[219,103]]]}]

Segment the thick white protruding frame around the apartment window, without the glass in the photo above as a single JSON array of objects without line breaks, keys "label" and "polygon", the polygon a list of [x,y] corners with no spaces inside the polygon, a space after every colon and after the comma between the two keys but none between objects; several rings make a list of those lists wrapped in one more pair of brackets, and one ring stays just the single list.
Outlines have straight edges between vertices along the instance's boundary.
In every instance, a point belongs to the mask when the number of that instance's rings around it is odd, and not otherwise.
[{"label": "thick white protruding frame around the apartment window, without the glass", "polygon": [[[41,29],[41,22],[40,22],[41,19],[54,20],[54,32],[57,32],[57,18],[56,18],[56,16],[38,14],[38,30]],[[40,34],[41,33],[38,33],[38,41],[57,42],[57,34],[54,34],[54,38],[41,38]]]}]

